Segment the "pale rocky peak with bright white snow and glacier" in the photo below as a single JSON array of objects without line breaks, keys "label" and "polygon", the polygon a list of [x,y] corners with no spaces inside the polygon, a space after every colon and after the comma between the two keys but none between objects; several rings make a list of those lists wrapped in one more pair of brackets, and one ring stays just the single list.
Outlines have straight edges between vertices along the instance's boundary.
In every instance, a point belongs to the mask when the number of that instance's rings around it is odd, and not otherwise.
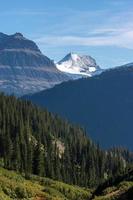
[{"label": "pale rocky peak with bright white snow and glacier", "polygon": [[99,74],[102,70],[94,58],[86,55],[69,53],[56,64],[57,69],[69,74],[77,74],[81,77]]}]

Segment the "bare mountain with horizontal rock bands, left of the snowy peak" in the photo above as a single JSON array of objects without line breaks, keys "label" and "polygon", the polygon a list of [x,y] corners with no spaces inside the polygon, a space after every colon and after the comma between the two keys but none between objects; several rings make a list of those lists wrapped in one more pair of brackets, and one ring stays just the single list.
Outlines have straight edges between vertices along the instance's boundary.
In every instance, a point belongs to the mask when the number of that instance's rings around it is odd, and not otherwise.
[{"label": "bare mountain with horizontal rock bands, left of the snowy peak", "polygon": [[69,80],[21,33],[0,33],[0,90],[8,94],[34,93]]}]

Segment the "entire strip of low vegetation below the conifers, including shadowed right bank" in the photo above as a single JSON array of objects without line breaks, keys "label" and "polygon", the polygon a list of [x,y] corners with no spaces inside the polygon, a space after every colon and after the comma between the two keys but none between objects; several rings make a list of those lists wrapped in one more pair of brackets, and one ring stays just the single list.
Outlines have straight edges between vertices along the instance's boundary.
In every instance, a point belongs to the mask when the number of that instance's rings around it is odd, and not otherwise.
[{"label": "entire strip of low vegetation below the conifers, including shadowed right bank", "polygon": [[133,171],[101,184],[96,190],[0,167],[0,200],[132,200]]}]

